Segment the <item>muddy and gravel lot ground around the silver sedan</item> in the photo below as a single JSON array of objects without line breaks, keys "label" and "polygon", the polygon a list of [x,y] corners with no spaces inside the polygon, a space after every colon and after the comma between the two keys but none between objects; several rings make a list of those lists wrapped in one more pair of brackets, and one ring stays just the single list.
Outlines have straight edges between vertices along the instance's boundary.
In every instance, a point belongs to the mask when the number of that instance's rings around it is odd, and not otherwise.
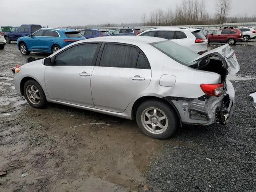
[{"label": "muddy and gravel lot ground around the silver sedan", "polygon": [[256,91],[256,41],[249,44],[233,47],[241,69],[232,81],[230,123],[183,126],[168,140],[144,136],[122,118],[57,104],[32,108],[15,95],[10,71],[28,56],[7,44],[0,50],[0,191],[256,191],[249,96]]}]

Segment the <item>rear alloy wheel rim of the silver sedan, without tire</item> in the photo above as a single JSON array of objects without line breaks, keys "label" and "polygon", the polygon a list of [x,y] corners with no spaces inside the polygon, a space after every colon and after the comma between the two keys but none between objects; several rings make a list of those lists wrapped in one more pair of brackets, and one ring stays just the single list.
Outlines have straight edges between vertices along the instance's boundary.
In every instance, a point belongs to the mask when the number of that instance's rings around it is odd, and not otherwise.
[{"label": "rear alloy wheel rim of the silver sedan, without tire", "polygon": [[143,127],[152,134],[162,134],[168,128],[168,118],[158,108],[150,107],[145,109],[141,115]]}]

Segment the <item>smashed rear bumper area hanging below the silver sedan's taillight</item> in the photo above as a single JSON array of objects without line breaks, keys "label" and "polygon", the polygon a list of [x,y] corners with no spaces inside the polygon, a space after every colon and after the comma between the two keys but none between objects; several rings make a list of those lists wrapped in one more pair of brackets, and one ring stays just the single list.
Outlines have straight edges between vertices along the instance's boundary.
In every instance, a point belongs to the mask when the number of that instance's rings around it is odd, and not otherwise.
[{"label": "smashed rear bumper area hanging below the silver sedan's taillight", "polygon": [[235,90],[226,80],[226,93],[220,97],[204,95],[200,98],[165,97],[174,105],[183,124],[209,125],[214,122],[227,124],[234,108]]}]

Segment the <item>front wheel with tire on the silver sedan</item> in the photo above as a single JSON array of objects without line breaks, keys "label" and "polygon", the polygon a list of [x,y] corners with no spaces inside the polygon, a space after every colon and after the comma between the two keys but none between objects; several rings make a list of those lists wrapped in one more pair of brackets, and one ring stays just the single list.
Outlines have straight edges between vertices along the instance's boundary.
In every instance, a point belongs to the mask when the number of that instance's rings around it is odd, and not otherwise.
[{"label": "front wheel with tire on the silver sedan", "polygon": [[47,104],[47,100],[44,94],[44,90],[35,80],[28,80],[24,84],[24,96],[28,103],[34,108],[44,108]]}]

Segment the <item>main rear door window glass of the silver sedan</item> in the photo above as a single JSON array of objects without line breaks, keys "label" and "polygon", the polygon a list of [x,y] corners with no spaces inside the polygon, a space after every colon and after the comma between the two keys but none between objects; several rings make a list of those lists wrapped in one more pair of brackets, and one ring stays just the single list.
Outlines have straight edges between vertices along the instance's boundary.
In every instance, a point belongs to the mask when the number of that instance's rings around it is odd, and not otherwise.
[{"label": "main rear door window glass of the silver sedan", "polygon": [[134,68],[139,50],[126,45],[105,44],[100,66]]}]

